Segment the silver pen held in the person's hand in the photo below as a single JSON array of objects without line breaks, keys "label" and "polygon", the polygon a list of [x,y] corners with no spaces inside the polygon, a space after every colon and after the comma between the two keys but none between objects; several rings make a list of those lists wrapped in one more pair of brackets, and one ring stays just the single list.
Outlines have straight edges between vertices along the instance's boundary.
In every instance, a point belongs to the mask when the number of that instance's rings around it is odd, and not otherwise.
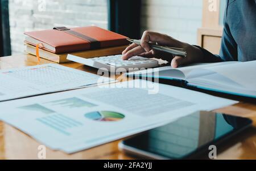
[{"label": "silver pen held in the person's hand", "polygon": [[[135,39],[127,39],[127,40],[130,42],[133,42],[134,44],[141,45],[141,40],[135,40]],[[185,52],[185,50],[182,48],[171,48],[168,46],[160,46],[160,45],[156,45],[156,44],[152,44],[152,43],[149,43],[149,44],[150,44],[151,48],[155,49],[155,50],[171,53],[173,55],[177,55],[180,57],[187,56],[187,52]]]}]

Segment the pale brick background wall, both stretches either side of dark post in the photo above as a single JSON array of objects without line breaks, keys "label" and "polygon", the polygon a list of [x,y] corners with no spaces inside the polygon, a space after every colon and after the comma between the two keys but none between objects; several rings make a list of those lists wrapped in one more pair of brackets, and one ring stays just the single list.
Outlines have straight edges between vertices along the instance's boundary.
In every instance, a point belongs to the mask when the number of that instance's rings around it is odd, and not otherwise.
[{"label": "pale brick background wall, both stretches either side of dark post", "polygon": [[[196,29],[201,26],[202,1],[142,0],[141,31],[162,32],[196,44]],[[106,0],[9,0],[12,53],[24,51],[25,31],[60,25],[107,28],[106,4]]]}]

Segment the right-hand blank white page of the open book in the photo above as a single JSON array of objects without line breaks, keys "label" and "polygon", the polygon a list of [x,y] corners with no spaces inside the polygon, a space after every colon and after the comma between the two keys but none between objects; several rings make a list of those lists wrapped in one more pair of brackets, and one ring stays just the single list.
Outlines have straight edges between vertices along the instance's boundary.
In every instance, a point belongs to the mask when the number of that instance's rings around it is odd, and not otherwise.
[{"label": "right-hand blank white page of the open book", "polygon": [[255,66],[256,61],[250,61],[195,69],[188,75],[188,85],[255,98]]}]

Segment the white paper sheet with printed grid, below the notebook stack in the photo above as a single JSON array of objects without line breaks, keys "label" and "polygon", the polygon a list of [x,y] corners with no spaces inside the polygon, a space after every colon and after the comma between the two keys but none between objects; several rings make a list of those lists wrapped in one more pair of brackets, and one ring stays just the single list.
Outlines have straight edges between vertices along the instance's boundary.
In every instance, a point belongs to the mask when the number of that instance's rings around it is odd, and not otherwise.
[{"label": "white paper sheet with printed grid, below the notebook stack", "polygon": [[0,70],[0,101],[106,82],[114,82],[114,79],[57,64]]}]

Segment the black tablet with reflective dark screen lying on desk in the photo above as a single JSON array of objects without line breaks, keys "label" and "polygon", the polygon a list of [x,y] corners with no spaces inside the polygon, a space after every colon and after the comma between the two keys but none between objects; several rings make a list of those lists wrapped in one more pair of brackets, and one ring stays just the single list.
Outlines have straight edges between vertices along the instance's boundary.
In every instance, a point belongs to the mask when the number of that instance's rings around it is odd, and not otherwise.
[{"label": "black tablet with reflective dark screen lying on desk", "polygon": [[[143,159],[207,158],[211,150],[216,152],[222,143],[251,124],[248,118],[200,111],[123,140],[119,149]],[[214,151],[210,155],[214,159]]]}]

